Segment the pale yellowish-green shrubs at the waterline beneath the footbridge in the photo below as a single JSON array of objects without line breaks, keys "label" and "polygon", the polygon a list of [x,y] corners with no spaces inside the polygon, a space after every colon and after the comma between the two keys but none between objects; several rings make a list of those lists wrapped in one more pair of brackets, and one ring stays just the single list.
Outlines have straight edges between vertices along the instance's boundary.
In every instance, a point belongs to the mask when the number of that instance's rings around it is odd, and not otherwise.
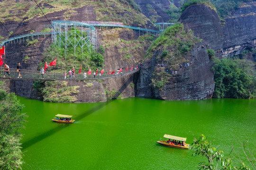
[{"label": "pale yellowish-green shrubs at the waterline beneath the footbridge", "polygon": [[78,87],[68,86],[66,81],[46,81],[42,91],[44,102],[75,102],[73,95],[79,93]]}]

